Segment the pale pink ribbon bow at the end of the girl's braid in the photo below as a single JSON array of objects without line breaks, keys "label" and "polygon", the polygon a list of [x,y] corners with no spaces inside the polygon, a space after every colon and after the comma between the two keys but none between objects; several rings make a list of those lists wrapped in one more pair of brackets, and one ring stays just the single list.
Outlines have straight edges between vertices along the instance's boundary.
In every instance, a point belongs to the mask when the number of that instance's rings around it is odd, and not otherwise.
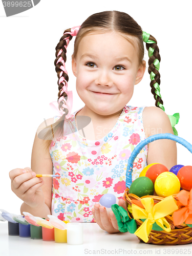
[{"label": "pale pink ribbon bow at the end of the girl's braid", "polygon": [[[69,113],[67,114],[66,118],[69,119],[70,115],[71,115],[71,111],[72,111],[72,106],[73,106],[73,92],[72,91],[68,91],[67,92],[68,95],[68,99],[66,101],[66,108],[69,110]],[[64,99],[64,97],[60,97],[59,98],[59,102]],[[57,103],[57,101],[52,101],[49,103],[51,109],[55,112],[55,115],[57,116],[62,116],[63,114],[65,114],[64,111],[60,111],[59,110],[59,104]],[[62,105],[63,106],[63,105]]]}]

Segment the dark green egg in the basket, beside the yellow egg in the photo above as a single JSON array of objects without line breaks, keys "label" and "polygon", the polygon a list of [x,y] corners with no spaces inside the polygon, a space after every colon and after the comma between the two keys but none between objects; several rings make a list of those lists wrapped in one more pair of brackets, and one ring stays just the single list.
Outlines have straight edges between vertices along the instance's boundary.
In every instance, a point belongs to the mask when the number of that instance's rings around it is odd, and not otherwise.
[{"label": "dark green egg in the basket, beside the yellow egg", "polygon": [[138,197],[153,195],[153,181],[148,177],[139,177],[131,184],[129,193],[135,194]]}]

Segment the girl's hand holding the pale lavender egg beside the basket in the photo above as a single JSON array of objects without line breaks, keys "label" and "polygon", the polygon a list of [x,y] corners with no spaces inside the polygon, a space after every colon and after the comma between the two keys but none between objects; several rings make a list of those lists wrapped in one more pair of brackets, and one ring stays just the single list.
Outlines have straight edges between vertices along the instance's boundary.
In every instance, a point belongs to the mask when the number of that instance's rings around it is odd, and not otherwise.
[{"label": "girl's hand holding the pale lavender egg beside the basket", "polygon": [[[119,200],[119,206],[122,206],[125,210],[126,205],[123,199]],[[119,232],[117,220],[113,211],[110,211],[110,218],[104,206],[100,206],[100,204],[95,204],[94,208],[92,208],[92,214],[94,220],[100,226],[101,229],[107,231],[108,233],[117,233]]]}]

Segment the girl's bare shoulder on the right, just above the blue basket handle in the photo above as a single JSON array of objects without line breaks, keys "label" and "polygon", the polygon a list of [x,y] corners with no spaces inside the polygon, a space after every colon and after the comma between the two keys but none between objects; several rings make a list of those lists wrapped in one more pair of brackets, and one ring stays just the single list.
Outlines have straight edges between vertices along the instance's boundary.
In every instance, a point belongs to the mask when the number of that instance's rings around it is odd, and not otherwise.
[{"label": "girl's bare shoulder on the right, just above the blue basket handle", "polygon": [[143,126],[146,138],[159,133],[173,133],[167,114],[157,106],[144,108]]}]

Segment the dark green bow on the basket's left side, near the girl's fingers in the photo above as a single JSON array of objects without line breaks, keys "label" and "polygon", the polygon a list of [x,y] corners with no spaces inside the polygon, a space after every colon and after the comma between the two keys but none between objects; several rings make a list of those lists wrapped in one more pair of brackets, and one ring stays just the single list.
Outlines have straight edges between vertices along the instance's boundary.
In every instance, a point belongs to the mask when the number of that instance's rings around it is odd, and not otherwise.
[{"label": "dark green bow on the basket's left side, near the girl's fingers", "polygon": [[127,211],[118,204],[113,204],[111,208],[117,220],[119,231],[129,231],[132,234],[135,233],[135,231],[137,230],[136,221],[134,219],[130,219],[130,217],[127,214]]}]

